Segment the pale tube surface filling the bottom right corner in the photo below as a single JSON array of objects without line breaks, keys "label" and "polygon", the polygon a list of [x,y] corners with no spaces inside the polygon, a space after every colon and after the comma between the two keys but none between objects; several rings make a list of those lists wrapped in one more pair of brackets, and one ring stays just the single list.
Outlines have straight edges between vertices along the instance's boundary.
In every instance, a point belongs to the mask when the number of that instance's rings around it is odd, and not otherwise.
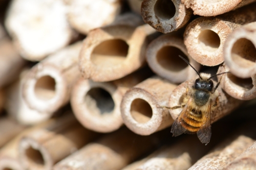
[{"label": "pale tube surface filling the bottom right corner", "polygon": [[239,169],[256,169],[256,142],[254,142],[247,150],[241,155],[234,159],[227,167],[223,170],[239,170]]}]

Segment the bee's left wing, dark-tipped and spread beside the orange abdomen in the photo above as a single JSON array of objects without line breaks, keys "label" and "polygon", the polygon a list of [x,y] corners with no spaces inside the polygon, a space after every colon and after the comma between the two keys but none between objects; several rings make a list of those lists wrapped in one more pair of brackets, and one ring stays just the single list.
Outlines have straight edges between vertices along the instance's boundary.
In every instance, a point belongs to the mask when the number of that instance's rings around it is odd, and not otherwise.
[{"label": "bee's left wing, dark-tipped and spread beside the orange abdomen", "polygon": [[186,132],[186,129],[181,125],[181,122],[183,121],[182,120],[182,115],[189,113],[188,108],[189,108],[189,105],[190,105],[191,101],[192,101],[192,98],[189,98],[186,105],[184,106],[184,108],[180,112],[179,116],[174,121],[172,129],[170,130],[170,132],[173,133],[173,136],[179,136],[179,135],[183,134],[184,132]]}]

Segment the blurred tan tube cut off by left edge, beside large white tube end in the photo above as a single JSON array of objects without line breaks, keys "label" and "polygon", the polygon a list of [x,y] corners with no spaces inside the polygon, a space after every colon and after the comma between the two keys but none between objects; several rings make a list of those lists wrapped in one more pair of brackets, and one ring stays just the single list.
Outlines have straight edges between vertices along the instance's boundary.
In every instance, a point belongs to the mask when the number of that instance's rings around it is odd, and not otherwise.
[{"label": "blurred tan tube cut off by left edge, beside large white tube end", "polygon": [[26,62],[8,37],[0,40],[0,60],[0,87],[3,87],[18,78]]}]

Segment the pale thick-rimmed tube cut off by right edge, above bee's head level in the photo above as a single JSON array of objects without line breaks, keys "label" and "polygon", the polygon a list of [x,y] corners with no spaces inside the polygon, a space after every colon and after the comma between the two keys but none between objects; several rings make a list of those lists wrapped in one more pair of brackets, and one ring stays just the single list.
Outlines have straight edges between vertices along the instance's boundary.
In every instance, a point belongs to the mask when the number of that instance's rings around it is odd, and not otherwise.
[{"label": "pale thick-rimmed tube cut off by right edge, above bee's head level", "polygon": [[250,78],[256,71],[256,22],[234,30],[226,39],[223,56],[233,75]]}]

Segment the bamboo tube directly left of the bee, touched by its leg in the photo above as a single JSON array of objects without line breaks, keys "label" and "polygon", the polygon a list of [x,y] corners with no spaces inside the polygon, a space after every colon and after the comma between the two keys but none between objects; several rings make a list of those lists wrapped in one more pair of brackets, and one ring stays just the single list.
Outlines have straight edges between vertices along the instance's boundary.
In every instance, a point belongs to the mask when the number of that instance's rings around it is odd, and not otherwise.
[{"label": "bamboo tube directly left of the bee, touched by its leg", "polygon": [[124,124],[139,135],[150,135],[173,124],[167,106],[176,85],[158,77],[149,78],[129,91],[121,102]]}]

